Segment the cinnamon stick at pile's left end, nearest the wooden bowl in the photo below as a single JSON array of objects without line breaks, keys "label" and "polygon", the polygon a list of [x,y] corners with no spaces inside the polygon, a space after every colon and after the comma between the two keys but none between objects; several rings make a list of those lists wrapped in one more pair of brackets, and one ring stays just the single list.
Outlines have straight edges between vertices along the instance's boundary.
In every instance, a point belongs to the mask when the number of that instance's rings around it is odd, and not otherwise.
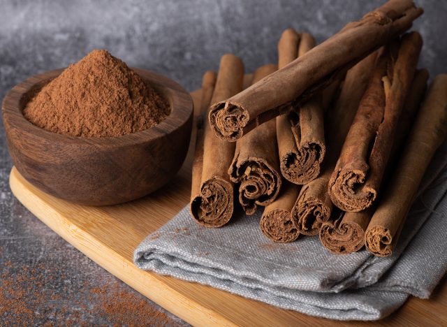
[{"label": "cinnamon stick at pile's left end, nearest the wooden bowl", "polygon": [[[225,54],[221,58],[219,73],[212,93],[211,103],[226,99],[242,89],[244,65],[233,54]],[[210,96],[211,75],[205,74],[203,80],[203,106]],[[205,108],[205,107],[203,107]],[[205,119],[205,122],[207,120]],[[234,186],[228,177],[228,166],[235,153],[235,144],[217,138],[210,124],[203,126],[203,159],[200,161],[200,141],[198,157],[193,163],[193,200],[191,214],[199,224],[206,227],[220,227],[226,224],[233,215]],[[198,171],[201,169],[200,179]],[[200,180],[200,188],[198,188]]]}]

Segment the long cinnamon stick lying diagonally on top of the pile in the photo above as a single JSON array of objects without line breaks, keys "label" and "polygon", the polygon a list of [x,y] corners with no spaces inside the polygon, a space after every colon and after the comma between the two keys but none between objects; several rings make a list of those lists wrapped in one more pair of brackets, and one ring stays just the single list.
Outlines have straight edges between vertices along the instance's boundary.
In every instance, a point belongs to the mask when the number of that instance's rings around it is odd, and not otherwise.
[{"label": "long cinnamon stick lying diagonally on top of the pile", "polygon": [[213,131],[235,141],[259,124],[302,103],[381,45],[402,34],[423,13],[411,0],[390,0],[268,78],[211,107]]}]

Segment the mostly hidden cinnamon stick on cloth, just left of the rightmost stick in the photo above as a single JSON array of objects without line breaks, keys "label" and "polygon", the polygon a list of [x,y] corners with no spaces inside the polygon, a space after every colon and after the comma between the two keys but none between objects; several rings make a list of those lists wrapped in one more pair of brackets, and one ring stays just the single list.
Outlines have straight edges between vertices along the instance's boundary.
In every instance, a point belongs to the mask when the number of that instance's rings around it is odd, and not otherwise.
[{"label": "mostly hidden cinnamon stick on cloth, just left of the rightmost stick", "polygon": [[[395,143],[391,152],[392,158],[390,158],[390,164],[387,167],[388,172],[390,171],[390,166],[393,166],[395,163],[395,157],[402,149],[411,123],[420,107],[420,102],[427,87],[427,79],[428,72],[426,69],[416,72],[410,92],[406,96],[404,111],[397,126]],[[386,173],[386,175],[388,176],[389,173]],[[374,211],[375,205],[360,212],[345,212],[339,219],[323,223],[319,233],[321,244],[335,254],[357,252],[365,244],[365,231],[372,215],[374,215]]]}]

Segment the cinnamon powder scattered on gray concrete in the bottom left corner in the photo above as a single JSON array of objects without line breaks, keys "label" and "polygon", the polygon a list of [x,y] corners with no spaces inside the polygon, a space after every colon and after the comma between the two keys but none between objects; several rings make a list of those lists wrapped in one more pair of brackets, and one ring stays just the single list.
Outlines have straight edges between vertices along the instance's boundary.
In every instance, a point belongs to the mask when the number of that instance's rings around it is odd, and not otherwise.
[{"label": "cinnamon powder scattered on gray concrete in the bottom left corner", "polygon": [[[44,263],[17,266],[6,261],[0,272],[0,326],[180,326],[179,322],[126,290],[127,286],[86,281],[78,289],[81,300],[62,294],[73,292],[63,272]],[[61,280],[56,279],[56,275]]]}]

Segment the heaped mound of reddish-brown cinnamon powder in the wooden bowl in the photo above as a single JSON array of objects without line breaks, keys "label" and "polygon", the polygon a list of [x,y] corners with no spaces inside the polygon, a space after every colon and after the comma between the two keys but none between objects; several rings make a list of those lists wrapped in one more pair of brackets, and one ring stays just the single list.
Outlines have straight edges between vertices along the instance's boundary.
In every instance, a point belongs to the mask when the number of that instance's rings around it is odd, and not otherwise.
[{"label": "heaped mound of reddish-brown cinnamon powder in the wooden bowl", "polygon": [[168,102],[106,50],[94,50],[66,68],[23,111],[47,131],[82,137],[135,133],[169,113]]}]

